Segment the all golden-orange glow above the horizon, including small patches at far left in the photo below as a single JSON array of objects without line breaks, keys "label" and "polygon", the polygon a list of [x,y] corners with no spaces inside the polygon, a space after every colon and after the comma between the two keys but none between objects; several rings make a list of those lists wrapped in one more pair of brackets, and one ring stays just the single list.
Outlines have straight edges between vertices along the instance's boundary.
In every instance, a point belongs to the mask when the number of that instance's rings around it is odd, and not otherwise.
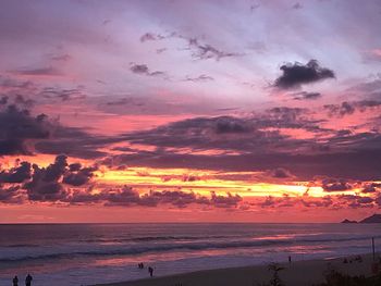
[{"label": "all golden-orange glow above the horizon, including small patches at far left", "polygon": [[[39,154],[4,157],[2,161],[3,169],[10,169],[16,165],[16,160],[32,161],[39,166],[47,166],[54,161],[56,156]],[[90,165],[87,160],[71,160],[69,163],[81,162],[84,165]],[[192,170],[192,169],[153,169],[153,167],[128,167],[126,170],[108,170],[106,167],[95,172],[94,181],[96,183],[93,192],[99,192],[105,187],[133,187],[140,194],[149,190],[176,190],[194,191],[199,195],[209,196],[211,191],[218,195],[239,195],[245,198],[255,197],[309,197],[321,198],[328,195],[359,195],[361,186],[355,186],[351,190],[324,191],[321,186],[309,186],[309,182],[297,182],[271,178],[266,176],[266,172],[218,172],[211,170]],[[381,182],[372,182],[380,184]],[[362,197],[370,196],[361,194]]]}]

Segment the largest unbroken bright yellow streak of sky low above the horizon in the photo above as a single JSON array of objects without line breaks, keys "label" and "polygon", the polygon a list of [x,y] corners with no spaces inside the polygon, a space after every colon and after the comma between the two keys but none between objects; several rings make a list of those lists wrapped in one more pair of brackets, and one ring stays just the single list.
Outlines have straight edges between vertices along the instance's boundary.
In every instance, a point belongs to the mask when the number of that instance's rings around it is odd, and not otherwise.
[{"label": "largest unbroken bright yellow streak of sky low above the horizon", "polygon": [[[108,170],[99,174],[98,182],[105,185],[127,185],[137,190],[179,189],[195,191],[201,195],[238,194],[242,197],[282,197],[302,196],[306,192],[307,182],[262,183],[257,178],[262,172],[226,172],[200,171],[188,169],[147,169],[130,167],[124,171]],[[242,177],[242,178],[239,178]],[[322,197],[321,187],[310,187],[310,196]]]}]

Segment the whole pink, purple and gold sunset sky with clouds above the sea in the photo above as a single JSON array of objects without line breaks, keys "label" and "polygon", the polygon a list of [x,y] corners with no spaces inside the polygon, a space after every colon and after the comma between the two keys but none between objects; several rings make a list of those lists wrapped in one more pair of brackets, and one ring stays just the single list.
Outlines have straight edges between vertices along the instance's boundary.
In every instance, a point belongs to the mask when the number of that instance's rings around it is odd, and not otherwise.
[{"label": "whole pink, purple and gold sunset sky with clouds above the sea", "polygon": [[0,5],[0,223],[380,212],[380,1]]}]

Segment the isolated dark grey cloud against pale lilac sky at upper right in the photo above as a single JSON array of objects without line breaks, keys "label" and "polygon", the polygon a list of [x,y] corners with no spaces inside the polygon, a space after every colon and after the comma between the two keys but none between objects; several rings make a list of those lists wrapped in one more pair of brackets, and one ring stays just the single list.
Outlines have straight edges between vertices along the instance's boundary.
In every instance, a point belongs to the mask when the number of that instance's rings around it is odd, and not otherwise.
[{"label": "isolated dark grey cloud against pale lilac sky at upper right", "polygon": [[321,67],[316,60],[307,64],[287,63],[280,67],[283,74],[275,79],[274,86],[282,89],[298,88],[300,85],[334,78],[333,71]]}]

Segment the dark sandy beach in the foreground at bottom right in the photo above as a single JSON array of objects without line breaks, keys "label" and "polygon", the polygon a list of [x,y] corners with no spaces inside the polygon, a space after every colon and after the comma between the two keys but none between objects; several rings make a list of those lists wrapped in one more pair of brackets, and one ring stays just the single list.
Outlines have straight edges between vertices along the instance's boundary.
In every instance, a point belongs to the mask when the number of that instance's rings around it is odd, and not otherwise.
[{"label": "dark sandy beach in the foreground at bottom right", "polygon": [[[379,256],[377,256],[379,257]],[[354,257],[347,257],[349,260]],[[361,256],[362,262],[354,261],[343,263],[344,258],[328,260],[309,260],[281,263],[284,268],[280,277],[285,286],[312,286],[324,282],[323,272],[333,268],[343,274],[370,276],[372,256]],[[121,282],[113,284],[99,284],[103,286],[258,286],[268,283],[272,272],[268,265],[219,269],[197,271],[164,277],[145,278],[138,281]]]}]

